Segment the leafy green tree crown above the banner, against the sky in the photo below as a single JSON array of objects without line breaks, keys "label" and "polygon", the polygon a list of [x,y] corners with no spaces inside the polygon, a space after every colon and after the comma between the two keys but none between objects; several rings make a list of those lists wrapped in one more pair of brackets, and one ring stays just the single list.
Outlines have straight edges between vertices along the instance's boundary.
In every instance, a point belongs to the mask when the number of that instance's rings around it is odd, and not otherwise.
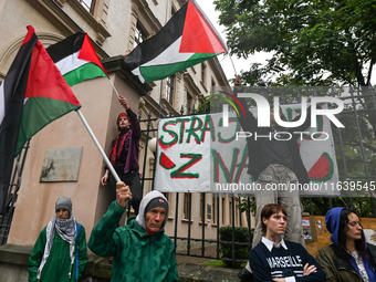
[{"label": "leafy green tree crown above the banner, against the sky", "polygon": [[232,54],[273,52],[243,79],[292,85],[368,85],[376,59],[375,0],[216,0]]}]

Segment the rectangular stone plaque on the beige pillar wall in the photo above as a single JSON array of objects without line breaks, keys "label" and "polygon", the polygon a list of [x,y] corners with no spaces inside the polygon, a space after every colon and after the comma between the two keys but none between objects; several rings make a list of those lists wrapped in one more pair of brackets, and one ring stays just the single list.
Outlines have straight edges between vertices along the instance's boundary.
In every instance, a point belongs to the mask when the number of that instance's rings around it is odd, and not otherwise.
[{"label": "rectangular stone plaque on the beige pillar wall", "polygon": [[45,152],[41,182],[77,181],[82,146],[48,149]]}]

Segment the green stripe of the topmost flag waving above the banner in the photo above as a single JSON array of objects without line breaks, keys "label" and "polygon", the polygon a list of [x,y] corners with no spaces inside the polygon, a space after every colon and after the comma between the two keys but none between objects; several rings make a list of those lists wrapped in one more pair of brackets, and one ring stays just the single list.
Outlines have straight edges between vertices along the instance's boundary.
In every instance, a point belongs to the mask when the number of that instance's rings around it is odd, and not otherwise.
[{"label": "green stripe of the topmost flag waving above the banner", "polygon": [[210,54],[210,53],[196,53],[192,56],[190,56],[187,61],[179,62],[179,63],[140,66],[139,72],[143,75],[145,83],[150,82],[150,81],[163,80],[167,76],[181,72],[185,69],[188,69],[195,64],[201,63],[216,55],[217,54]]}]

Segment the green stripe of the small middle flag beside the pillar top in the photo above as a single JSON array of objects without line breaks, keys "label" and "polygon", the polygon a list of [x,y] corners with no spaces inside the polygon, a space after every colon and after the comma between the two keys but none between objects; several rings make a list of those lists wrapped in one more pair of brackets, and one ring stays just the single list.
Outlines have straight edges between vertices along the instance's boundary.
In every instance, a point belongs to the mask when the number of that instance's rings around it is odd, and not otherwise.
[{"label": "green stripe of the small middle flag beside the pillar top", "polygon": [[79,84],[85,80],[95,79],[97,76],[107,77],[106,73],[100,66],[93,63],[84,64],[63,75],[64,80],[70,86]]}]

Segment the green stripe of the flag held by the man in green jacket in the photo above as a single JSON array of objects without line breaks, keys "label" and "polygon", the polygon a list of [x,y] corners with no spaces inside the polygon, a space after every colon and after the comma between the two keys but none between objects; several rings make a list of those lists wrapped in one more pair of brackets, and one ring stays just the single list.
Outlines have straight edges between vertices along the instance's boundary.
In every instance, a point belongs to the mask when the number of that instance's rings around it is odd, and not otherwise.
[{"label": "green stripe of the flag held by the man in green jacket", "polygon": [[35,133],[59,117],[79,108],[71,103],[48,97],[30,97],[23,105],[15,156]]}]

